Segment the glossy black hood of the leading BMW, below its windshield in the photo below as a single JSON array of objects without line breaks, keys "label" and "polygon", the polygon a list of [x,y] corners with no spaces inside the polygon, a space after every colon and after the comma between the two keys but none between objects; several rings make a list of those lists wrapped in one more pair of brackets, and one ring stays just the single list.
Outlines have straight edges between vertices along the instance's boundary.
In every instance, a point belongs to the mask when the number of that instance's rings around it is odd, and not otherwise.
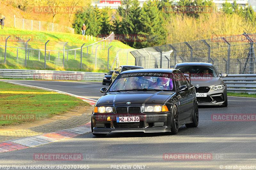
[{"label": "glossy black hood of the leading BMW, below its windshield", "polygon": [[126,102],[131,102],[129,106],[141,105],[163,105],[174,92],[110,92],[101,96],[97,101],[97,106],[128,106]]}]

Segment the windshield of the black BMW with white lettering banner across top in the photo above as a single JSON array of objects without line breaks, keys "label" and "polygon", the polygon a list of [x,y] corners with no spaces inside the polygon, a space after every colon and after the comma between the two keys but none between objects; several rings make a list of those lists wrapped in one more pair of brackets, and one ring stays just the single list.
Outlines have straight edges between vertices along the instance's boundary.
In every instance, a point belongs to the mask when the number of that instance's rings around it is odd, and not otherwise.
[{"label": "windshield of the black BMW with white lettering banner across top", "polygon": [[118,76],[110,86],[108,92],[118,91],[173,91],[171,73],[127,73]]}]

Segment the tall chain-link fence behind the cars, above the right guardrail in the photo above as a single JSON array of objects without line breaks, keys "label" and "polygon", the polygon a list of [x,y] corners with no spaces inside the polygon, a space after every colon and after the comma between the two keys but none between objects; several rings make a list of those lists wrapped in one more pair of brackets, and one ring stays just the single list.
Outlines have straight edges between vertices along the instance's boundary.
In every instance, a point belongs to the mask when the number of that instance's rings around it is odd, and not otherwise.
[{"label": "tall chain-link fence behind the cars, above the right guardrail", "polygon": [[176,63],[207,62],[228,74],[255,74],[256,34],[213,35],[212,39],[168,44],[131,51],[135,65],[170,68]]}]

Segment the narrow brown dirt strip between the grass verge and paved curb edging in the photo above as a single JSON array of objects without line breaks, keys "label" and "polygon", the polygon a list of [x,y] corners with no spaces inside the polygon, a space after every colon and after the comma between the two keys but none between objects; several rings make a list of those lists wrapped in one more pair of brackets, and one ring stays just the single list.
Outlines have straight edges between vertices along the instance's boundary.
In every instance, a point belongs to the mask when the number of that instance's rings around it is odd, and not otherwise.
[{"label": "narrow brown dirt strip between the grass verge and paved curb edging", "polygon": [[22,123],[22,124],[16,124],[16,125],[7,125],[7,126],[0,126],[0,132],[6,131],[6,130],[19,130],[19,129],[26,129],[31,128],[39,125],[43,125],[46,123],[50,123],[56,120],[66,120],[74,115],[82,115],[82,114],[92,114],[93,107],[92,106],[83,106],[83,107],[76,107],[75,109],[71,110],[70,112],[61,114],[61,115],[55,115],[51,118],[46,118],[44,120],[36,120],[33,122],[28,123]]}]

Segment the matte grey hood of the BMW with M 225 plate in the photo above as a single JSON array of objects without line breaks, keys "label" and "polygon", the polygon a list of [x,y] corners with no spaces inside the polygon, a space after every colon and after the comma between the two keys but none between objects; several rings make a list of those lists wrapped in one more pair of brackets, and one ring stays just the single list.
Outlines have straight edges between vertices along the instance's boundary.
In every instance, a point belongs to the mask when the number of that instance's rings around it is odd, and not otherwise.
[{"label": "matte grey hood of the BMW with M 225 plate", "polygon": [[220,85],[221,78],[220,77],[191,77],[191,83],[195,87]]}]

